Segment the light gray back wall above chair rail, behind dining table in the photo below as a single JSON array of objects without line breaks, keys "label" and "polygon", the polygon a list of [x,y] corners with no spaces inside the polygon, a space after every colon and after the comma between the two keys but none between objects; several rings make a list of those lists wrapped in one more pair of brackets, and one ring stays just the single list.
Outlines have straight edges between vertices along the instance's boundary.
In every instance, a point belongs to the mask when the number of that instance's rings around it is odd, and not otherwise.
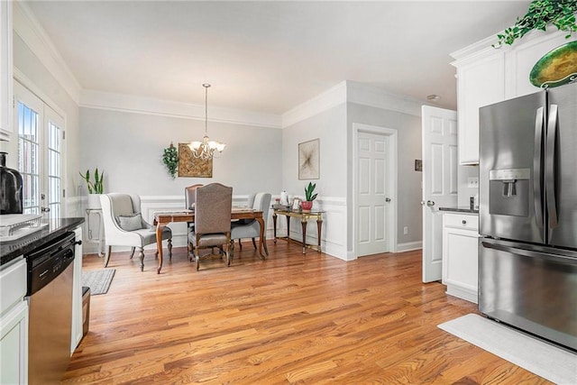
[{"label": "light gray back wall above chair rail, behind dining table", "polygon": [[80,128],[79,168],[104,170],[105,192],[184,197],[185,187],[211,182],[232,186],[234,195],[278,194],[281,188],[279,129],[209,121],[208,135],[227,143],[213,162],[213,178],[172,179],[161,160],[163,149],[170,142],[201,140],[204,121],[82,107]]}]

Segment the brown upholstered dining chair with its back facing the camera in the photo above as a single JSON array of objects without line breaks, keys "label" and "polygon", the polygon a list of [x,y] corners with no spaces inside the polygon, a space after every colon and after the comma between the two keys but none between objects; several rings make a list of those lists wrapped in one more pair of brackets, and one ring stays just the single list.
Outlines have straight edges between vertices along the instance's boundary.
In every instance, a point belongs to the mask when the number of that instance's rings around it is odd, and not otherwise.
[{"label": "brown upholstered dining chair with its back facing the camera", "polygon": [[[233,188],[220,183],[211,183],[196,189],[195,224],[189,229],[188,242],[194,252],[197,270],[200,266],[200,251],[218,247],[224,252],[226,266],[231,259],[228,252],[231,241],[231,211],[233,208]],[[212,252],[203,255],[209,257]]]}]

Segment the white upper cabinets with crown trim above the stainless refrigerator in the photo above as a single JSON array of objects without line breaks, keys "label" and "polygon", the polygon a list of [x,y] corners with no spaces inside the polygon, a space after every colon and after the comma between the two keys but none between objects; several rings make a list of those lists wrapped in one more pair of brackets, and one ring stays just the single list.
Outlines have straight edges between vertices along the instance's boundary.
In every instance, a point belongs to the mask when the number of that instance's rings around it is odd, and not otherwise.
[{"label": "white upper cabinets with crown trim above the stainless refrigerator", "polygon": [[539,91],[529,81],[536,61],[574,39],[565,32],[530,32],[512,46],[494,49],[497,35],[453,52],[457,69],[459,163],[479,164],[479,108]]}]

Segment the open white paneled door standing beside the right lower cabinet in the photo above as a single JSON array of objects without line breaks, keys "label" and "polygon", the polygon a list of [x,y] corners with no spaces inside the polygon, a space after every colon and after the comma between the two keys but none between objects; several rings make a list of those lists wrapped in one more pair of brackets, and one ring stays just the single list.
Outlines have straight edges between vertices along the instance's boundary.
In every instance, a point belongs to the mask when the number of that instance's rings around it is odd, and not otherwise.
[{"label": "open white paneled door standing beside the right lower cabinet", "polygon": [[423,282],[441,280],[443,215],[457,206],[457,113],[423,105]]}]

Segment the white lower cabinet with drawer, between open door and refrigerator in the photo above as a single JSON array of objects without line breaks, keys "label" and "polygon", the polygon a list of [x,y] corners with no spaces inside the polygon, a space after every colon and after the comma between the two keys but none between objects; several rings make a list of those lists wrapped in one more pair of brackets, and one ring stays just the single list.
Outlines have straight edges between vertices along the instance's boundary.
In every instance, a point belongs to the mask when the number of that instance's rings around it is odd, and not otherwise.
[{"label": "white lower cabinet with drawer, between open door and refrigerator", "polygon": [[443,215],[443,283],[447,294],[477,303],[479,216]]}]

